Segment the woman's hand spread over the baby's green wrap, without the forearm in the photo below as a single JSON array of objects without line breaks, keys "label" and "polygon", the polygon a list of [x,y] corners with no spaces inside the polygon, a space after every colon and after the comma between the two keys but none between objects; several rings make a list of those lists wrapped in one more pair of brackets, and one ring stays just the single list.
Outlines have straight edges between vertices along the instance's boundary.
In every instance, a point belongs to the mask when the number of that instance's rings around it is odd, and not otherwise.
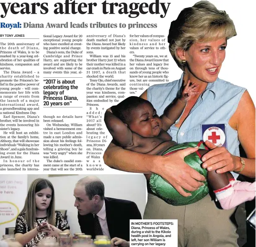
[{"label": "woman's hand spread over the baby's green wrap, without the forearm", "polygon": [[153,171],[153,173],[160,175],[166,181],[171,183],[182,196],[191,196],[191,194],[185,192],[183,188],[188,191],[195,191],[203,185],[200,181],[205,181],[203,175],[184,162],[184,158],[187,155],[194,153],[197,150],[198,147],[185,148],[166,157],[160,156],[160,158],[163,158],[164,163],[158,165],[156,167],[157,170]]}]

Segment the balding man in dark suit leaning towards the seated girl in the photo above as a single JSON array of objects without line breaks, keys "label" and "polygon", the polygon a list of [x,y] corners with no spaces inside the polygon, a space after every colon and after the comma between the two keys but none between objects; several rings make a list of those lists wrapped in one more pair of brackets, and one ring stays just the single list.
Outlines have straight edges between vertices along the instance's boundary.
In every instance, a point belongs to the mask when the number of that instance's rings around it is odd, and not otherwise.
[{"label": "balding man in dark suit leaning towards the seated girl", "polygon": [[81,232],[92,235],[107,235],[129,241],[129,220],[141,219],[133,201],[104,197],[104,184],[88,176],[78,181],[74,189],[75,207]]}]

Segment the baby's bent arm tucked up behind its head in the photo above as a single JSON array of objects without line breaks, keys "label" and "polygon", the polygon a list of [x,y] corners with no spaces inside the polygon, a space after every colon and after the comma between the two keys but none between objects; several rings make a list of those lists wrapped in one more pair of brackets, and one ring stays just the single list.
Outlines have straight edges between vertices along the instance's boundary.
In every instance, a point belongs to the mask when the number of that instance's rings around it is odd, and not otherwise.
[{"label": "baby's bent arm tucked up behind its head", "polygon": [[121,147],[132,145],[132,131],[122,120],[112,114],[110,109],[106,110],[104,121],[113,139],[118,142]]}]

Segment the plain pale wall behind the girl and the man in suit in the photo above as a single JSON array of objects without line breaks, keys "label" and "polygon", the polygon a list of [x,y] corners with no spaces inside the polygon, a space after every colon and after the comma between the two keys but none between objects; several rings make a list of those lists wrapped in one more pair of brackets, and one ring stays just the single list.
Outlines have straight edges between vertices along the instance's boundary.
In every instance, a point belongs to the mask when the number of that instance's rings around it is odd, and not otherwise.
[{"label": "plain pale wall behind the girl and the man in suit", "polygon": [[[73,190],[75,183],[86,175],[57,176],[28,175],[28,188],[36,178],[47,178],[54,186],[55,209],[66,209],[67,220],[72,233],[80,232],[78,211],[74,207]],[[146,180],[141,174],[124,175],[96,175],[105,185],[105,196],[134,201],[143,216],[146,205]]]}]

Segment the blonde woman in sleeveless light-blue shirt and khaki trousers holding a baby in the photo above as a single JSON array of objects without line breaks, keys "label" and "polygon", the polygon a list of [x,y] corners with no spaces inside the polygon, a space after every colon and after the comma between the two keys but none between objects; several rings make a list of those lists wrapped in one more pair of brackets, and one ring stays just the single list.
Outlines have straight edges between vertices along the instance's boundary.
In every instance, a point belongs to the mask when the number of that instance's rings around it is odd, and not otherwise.
[{"label": "blonde woman in sleeveless light-blue shirt and khaki trousers holding a baby", "polygon": [[[162,115],[189,80],[198,84],[199,94],[191,97],[168,133],[177,143],[198,142],[202,140],[202,124],[224,124],[227,148],[206,141],[212,150],[202,157],[203,168],[255,178],[255,107],[245,88],[218,78],[227,41],[235,35],[227,13],[208,1],[185,8],[171,23],[168,35],[171,55],[184,73],[177,81],[150,87],[141,97]],[[247,158],[240,158],[239,143]],[[122,171],[156,173],[181,195],[190,196],[189,191],[197,190],[205,180],[184,162],[184,157],[195,151],[186,148],[162,157],[124,150],[111,143],[104,161]],[[148,193],[144,219],[178,219],[178,247],[238,247],[236,227],[231,221],[234,211],[218,209],[209,195],[193,204],[172,206]]]}]

